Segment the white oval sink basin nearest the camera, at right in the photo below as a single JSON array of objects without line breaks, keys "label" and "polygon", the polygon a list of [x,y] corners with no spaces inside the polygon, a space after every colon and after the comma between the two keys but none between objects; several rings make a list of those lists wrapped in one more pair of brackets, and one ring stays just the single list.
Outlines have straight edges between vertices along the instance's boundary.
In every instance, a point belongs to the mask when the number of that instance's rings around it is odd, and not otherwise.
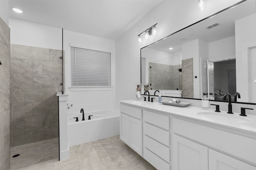
[{"label": "white oval sink basin nearest the camera, at right", "polygon": [[217,113],[217,112],[199,112],[198,115],[205,119],[217,119],[218,121],[234,122],[234,123],[250,123],[251,120],[242,116],[237,116],[228,113]]}]

